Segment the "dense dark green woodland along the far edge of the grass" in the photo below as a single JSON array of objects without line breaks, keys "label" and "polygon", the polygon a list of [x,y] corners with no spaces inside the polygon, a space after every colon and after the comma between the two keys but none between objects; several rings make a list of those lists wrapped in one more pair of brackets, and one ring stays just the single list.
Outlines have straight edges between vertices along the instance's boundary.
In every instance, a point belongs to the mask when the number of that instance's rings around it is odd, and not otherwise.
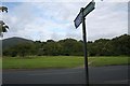
[{"label": "dense dark green woodland along the far edge of the grass", "polygon": [[[89,41],[88,56],[130,56],[130,35]],[[47,42],[21,42],[3,48],[3,56],[83,56],[83,41],[64,39]]]}]

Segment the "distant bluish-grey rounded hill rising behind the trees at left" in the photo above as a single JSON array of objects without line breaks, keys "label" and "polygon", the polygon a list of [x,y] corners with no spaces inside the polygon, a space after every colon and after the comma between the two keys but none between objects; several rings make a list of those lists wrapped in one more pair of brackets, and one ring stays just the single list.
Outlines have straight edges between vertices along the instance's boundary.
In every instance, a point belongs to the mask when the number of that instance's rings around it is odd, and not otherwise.
[{"label": "distant bluish-grey rounded hill rising behind the trees at left", "polygon": [[23,38],[17,38],[17,37],[3,39],[2,40],[2,49],[5,49],[5,48],[9,48],[9,47],[12,47],[14,45],[17,45],[20,43],[25,43],[25,42],[26,43],[32,43],[34,41],[23,39]]}]

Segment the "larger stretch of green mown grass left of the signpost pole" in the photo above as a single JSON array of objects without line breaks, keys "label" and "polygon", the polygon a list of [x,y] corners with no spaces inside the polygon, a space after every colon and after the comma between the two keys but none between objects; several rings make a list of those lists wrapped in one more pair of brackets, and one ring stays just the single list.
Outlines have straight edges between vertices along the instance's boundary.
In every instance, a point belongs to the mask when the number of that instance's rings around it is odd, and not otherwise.
[{"label": "larger stretch of green mown grass left of the signpost pole", "polygon": [[3,69],[75,68],[83,64],[82,57],[44,56],[32,58],[3,58]]}]

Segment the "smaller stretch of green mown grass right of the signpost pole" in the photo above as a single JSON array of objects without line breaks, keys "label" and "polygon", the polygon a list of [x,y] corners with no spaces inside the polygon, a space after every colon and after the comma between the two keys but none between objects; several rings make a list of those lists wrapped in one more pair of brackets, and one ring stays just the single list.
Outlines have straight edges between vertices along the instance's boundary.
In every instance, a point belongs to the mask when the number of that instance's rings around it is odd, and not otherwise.
[{"label": "smaller stretch of green mown grass right of the signpost pole", "polygon": [[91,67],[102,67],[102,66],[122,66],[128,64],[130,61],[128,61],[129,57],[126,56],[110,56],[110,57],[91,57],[89,58],[89,61],[91,61]]}]

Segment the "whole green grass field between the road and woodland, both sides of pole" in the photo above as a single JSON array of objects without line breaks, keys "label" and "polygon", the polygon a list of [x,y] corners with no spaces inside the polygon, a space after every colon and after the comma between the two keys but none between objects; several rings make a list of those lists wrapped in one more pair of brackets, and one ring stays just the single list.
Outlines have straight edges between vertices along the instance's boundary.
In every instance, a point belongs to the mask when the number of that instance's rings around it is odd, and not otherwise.
[{"label": "whole green grass field between the road and woodland, both sides of pole", "polygon": [[[84,60],[80,56],[34,56],[29,58],[3,57],[3,69],[49,69],[83,67]],[[89,57],[89,66],[128,64],[128,57]]]}]

